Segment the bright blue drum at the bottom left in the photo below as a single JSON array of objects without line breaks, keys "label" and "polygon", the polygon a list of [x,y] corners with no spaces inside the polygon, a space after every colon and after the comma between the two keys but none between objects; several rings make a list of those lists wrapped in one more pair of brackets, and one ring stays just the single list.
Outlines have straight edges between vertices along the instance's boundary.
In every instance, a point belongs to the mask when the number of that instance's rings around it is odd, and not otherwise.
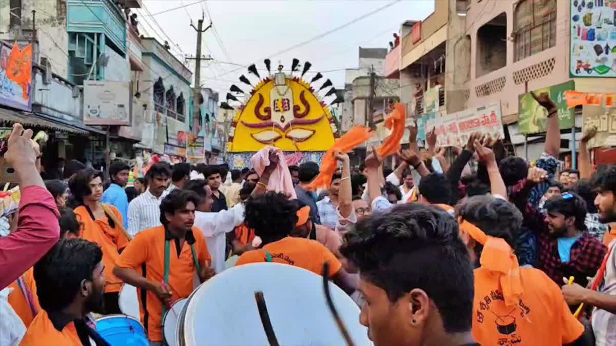
[{"label": "bright blue drum at the bottom left", "polygon": [[107,315],[96,320],[96,331],[111,346],[149,346],[150,341],[139,320],[126,315]]}]

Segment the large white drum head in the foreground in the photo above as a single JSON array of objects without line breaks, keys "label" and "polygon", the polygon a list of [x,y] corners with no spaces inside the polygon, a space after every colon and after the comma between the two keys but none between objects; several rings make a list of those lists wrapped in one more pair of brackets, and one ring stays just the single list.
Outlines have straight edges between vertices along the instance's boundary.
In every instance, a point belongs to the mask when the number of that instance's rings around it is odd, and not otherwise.
[{"label": "large white drum head in the foreground", "polygon": [[[323,278],[291,265],[233,267],[201,284],[188,298],[179,345],[269,345],[254,292],[262,291],[280,345],[345,345],[325,300]],[[360,310],[330,283],[331,298],[355,345],[372,345]]]}]

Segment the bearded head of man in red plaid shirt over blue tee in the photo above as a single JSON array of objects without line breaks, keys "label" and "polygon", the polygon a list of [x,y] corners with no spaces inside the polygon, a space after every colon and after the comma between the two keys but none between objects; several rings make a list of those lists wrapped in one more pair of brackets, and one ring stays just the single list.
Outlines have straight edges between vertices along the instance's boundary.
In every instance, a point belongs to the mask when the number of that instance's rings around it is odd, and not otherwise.
[{"label": "bearded head of man in red plaid shirt over blue tee", "polygon": [[547,212],[545,220],[551,237],[571,237],[586,230],[586,202],[577,194],[566,192],[554,196],[543,207]]}]

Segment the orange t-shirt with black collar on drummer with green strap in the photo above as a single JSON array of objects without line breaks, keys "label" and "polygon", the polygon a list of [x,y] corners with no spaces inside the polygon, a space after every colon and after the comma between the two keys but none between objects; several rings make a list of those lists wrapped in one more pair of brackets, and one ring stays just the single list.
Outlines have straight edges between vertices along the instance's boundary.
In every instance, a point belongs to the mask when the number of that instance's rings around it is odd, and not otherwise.
[{"label": "orange t-shirt with black collar on drummer with green strap", "polygon": [[[208,246],[203,233],[197,227],[192,228],[195,236],[195,252],[199,265],[210,262]],[[118,259],[118,267],[132,268],[154,283],[162,283],[164,279],[164,226],[140,231]],[[192,257],[190,245],[184,241],[180,255],[177,255],[175,241],[170,244],[169,253],[169,287],[171,287],[172,301],[187,298],[193,291],[193,278],[197,268]],[[142,265],[145,264],[145,273]],[[139,310],[141,322],[148,332],[148,339],[152,342],[162,341],[163,332],[161,323],[163,320],[163,304],[154,292],[146,291],[145,307],[142,305],[143,289],[138,290]],[[147,318],[147,321],[146,321]]]}]

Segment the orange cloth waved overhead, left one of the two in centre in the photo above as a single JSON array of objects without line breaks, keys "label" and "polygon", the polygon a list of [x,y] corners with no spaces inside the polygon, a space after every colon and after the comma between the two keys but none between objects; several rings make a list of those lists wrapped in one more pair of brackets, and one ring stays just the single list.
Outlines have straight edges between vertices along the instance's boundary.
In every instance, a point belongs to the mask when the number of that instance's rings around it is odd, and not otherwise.
[{"label": "orange cloth waved overhead, left one of the two in centre", "polygon": [[321,163],[321,172],[312,180],[309,189],[314,191],[321,187],[330,187],[331,176],[336,172],[336,158],[334,157],[334,151],[342,151],[346,153],[352,150],[363,142],[366,142],[370,137],[374,135],[368,127],[355,126],[351,131],[344,134],[323,156],[323,162]]}]

